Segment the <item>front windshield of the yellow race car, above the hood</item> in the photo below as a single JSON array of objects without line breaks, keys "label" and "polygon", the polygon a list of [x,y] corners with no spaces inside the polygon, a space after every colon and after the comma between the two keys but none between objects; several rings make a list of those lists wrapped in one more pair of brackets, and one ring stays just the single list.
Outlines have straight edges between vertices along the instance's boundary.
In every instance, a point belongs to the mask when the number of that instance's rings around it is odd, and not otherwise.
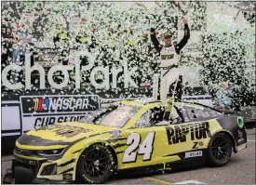
[{"label": "front windshield of the yellow race car, above the hood", "polygon": [[138,107],[130,105],[103,108],[97,112],[88,114],[86,117],[82,118],[80,122],[100,126],[123,127],[138,109]]}]

